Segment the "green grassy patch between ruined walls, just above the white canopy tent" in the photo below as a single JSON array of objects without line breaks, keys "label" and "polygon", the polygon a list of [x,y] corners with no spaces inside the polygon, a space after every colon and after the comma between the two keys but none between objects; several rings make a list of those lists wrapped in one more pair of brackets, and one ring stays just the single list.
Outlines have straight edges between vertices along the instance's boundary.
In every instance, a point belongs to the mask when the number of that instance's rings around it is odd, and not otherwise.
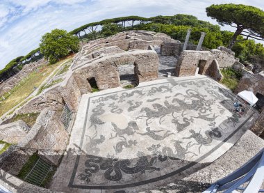
[{"label": "green grassy patch between ruined walls, just above the white canopy tent", "polygon": [[234,91],[236,86],[238,86],[238,82],[242,77],[240,72],[233,70],[233,68],[226,68],[221,70],[222,75],[224,76],[220,81],[227,88],[230,88],[231,91]]}]

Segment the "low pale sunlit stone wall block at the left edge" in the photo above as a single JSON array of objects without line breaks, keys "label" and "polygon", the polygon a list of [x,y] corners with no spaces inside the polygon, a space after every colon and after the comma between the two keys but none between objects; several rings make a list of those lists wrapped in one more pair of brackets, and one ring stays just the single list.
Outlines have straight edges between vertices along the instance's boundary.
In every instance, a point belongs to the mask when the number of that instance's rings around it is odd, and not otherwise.
[{"label": "low pale sunlit stone wall block at the left edge", "polygon": [[0,125],[0,140],[6,141],[9,144],[17,144],[24,139],[28,130],[30,128],[22,120]]}]

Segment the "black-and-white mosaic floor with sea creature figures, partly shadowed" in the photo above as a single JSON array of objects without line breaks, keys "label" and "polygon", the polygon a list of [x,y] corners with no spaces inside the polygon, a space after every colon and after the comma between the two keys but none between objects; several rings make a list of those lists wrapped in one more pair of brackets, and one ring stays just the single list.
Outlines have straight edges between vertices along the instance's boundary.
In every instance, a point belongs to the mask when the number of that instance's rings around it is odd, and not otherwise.
[{"label": "black-and-white mosaic floor with sea creature figures, partly shadowed", "polygon": [[147,185],[213,162],[253,113],[233,111],[233,95],[204,76],[101,91],[81,104],[68,185],[81,189]]}]

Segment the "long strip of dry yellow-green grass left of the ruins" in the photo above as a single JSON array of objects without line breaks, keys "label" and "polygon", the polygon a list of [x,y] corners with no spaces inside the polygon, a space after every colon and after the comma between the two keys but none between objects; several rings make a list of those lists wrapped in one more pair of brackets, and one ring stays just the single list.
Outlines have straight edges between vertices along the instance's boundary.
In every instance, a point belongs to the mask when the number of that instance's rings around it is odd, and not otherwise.
[{"label": "long strip of dry yellow-green grass left of the ruins", "polygon": [[53,65],[41,65],[38,69],[29,73],[24,79],[22,79],[17,86],[9,91],[9,93],[5,93],[5,99],[1,98],[0,100],[0,116],[9,111],[24,99],[28,97],[33,91],[35,91],[40,84],[46,79],[51,73],[58,68],[61,63],[68,61],[69,59],[65,59],[63,61],[59,61],[58,63],[54,63]]}]

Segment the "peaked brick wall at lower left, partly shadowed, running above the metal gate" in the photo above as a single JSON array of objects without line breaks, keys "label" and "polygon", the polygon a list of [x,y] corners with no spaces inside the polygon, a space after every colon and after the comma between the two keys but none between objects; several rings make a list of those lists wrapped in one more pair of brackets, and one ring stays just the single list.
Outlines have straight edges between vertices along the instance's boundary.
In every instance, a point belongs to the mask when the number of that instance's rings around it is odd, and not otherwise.
[{"label": "peaked brick wall at lower left, partly shadowed, running above the metal gate", "polygon": [[58,165],[69,139],[69,134],[58,116],[55,111],[44,109],[17,146],[10,146],[0,155],[0,168],[17,175],[28,158],[37,150],[38,155],[44,160]]}]

